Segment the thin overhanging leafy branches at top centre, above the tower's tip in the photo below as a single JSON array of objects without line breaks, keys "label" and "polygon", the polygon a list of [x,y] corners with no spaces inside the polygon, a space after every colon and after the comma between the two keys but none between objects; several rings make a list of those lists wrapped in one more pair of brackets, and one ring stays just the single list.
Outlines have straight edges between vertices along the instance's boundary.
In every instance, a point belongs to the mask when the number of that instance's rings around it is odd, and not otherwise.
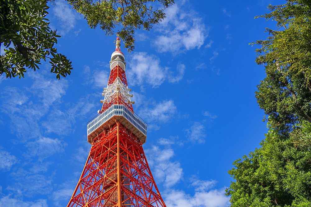
[{"label": "thin overhanging leafy branches at top centre, above the tower's tip", "polygon": [[[99,24],[106,35],[114,34],[116,26],[122,27],[117,34],[124,41],[128,52],[134,50],[134,32],[143,28],[150,30],[165,18],[165,8],[174,0],[67,0],[74,9],[84,15],[88,25],[95,29]],[[154,9],[151,3],[159,2],[162,9]],[[148,6],[147,6],[148,5]]]}]

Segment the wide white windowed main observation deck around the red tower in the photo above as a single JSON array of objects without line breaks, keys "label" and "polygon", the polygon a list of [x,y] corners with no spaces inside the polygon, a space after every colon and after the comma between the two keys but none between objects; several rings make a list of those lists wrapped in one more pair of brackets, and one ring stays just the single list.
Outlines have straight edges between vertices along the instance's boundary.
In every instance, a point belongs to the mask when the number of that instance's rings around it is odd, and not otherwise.
[{"label": "wide white windowed main observation deck around the red tower", "polygon": [[92,140],[103,129],[109,128],[109,126],[115,124],[115,121],[119,121],[124,126],[132,131],[144,144],[147,137],[147,123],[142,120],[137,114],[131,112],[123,105],[112,105],[103,113],[96,115],[87,123],[87,141],[91,144]]}]

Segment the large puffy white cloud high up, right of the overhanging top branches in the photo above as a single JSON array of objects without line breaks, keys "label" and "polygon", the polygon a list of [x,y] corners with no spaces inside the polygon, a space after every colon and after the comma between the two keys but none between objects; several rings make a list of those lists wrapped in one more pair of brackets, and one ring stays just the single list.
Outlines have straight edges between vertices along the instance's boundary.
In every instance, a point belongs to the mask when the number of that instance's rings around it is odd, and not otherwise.
[{"label": "large puffy white cloud high up, right of the overhanging top branches", "polygon": [[202,18],[183,6],[180,3],[165,9],[166,18],[155,27],[162,33],[154,41],[159,52],[178,54],[200,48],[208,36]]}]

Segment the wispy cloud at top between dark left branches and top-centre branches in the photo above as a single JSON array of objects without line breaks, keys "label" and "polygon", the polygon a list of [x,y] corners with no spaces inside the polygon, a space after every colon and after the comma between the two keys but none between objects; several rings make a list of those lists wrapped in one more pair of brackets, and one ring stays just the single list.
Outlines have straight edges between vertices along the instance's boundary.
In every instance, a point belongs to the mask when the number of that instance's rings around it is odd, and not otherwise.
[{"label": "wispy cloud at top between dark left branches and top-centre branches", "polygon": [[74,29],[77,23],[77,19],[81,18],[81,16],[74,11],[75,10],[71,9],[71,5],[65,1],[57,1],[55,7],[53,7],[53,14],[58,19],[62,28],[59,30],[59,34],[61,36]]}]

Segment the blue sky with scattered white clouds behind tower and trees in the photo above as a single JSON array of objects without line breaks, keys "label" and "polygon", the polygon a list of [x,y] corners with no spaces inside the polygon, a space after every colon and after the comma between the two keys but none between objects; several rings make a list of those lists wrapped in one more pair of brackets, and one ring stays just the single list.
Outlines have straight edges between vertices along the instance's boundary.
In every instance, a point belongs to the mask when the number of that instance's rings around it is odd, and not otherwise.
[{"label": "blue sky with scattered white clouds behind tower and trees", "polygon": [[[137,30],[127,62],[143,145],[167,207],[225,207],[234,160],[267,132],[254,92],[264,79],[251,43],[275,22],[254,19],[285,1],[176,1],[151,31]],[[101,108],[115,36],[65,1],[49,8],[58,52],[74,70],[59,81],[44,63],[24,79],[0,76],[0,206],[66,206],[91,148],[86,123]]]}]

